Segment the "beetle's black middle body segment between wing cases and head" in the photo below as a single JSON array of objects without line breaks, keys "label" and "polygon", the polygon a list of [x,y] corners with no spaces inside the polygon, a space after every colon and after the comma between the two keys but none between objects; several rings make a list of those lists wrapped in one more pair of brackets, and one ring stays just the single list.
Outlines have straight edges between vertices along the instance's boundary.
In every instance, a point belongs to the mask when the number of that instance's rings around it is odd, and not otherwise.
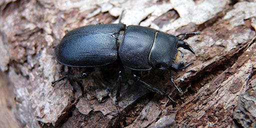
[{"label": "beetle's black middle body segment between wing cases and head", "polygon": [[134,70],[149,70],[148,55],[157,30],[129,25],[124,31],[118,54],[122,64]]}]

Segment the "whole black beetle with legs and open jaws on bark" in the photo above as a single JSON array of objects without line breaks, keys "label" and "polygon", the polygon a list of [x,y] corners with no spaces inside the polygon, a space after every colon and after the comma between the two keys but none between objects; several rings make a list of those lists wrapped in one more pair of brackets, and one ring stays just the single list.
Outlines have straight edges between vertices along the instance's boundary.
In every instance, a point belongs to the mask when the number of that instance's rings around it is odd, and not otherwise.
[{"label": "whole black beetle with legs and open jaws on bark", "polygon": [[[177,49],[178,47],[194,53],[191,46],[183,41],[183,38],[189,34],[199,34],[199,32],[174,36],[139,25],[127,27],[122,23],[86,25],[69,31],[55,47],[54,56],[59,63],[72,67],[104,66],[119,60],[124,67],[133,72],[152,68],[168,69],[171,82],[182,95],[181,89],[173,81],[171,70],[181,70],[191,64],[184,64],[182,61],[179,64],[175,63],[177,53],[180,51]],[[182,37],[178,38],[181,35]],[[182,52],[181,56],[183,57]],[[115,105],[118,113],[120,113],[118,100],[123,66],[121,66],[117,78]],[[91,70],[77,76],[64,75],[53,81],[52,84],[64,78],[85,78],[90,72]],[[133,80],[145,88],[166,95],[175,102],[167,92],[145,82],[136,73],[132,75]]]}]

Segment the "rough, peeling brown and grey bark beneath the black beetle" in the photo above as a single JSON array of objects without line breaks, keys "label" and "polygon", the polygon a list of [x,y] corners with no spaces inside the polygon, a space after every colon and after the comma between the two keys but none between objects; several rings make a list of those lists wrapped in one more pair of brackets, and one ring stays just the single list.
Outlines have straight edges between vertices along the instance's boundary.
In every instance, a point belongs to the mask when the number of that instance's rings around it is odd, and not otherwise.
[{"label": "rough, peeling brown and grey bark beneath the black beetle", "polygon": [[[255,127],[255,9],[253,0],[1,1],[0,127]],[[62,75],[86,70],[54,60],[65,31],[117,21],[122,10],[127,25],[174,35],[201,31],[185,39],[195,54],[181,49],[180,59],[193,64],[172,73],[182,96],[168,71],[143,72],[142,79],[176,104],[133,82],[125,69],[117,114],[117,62],[51,86]]]}]

